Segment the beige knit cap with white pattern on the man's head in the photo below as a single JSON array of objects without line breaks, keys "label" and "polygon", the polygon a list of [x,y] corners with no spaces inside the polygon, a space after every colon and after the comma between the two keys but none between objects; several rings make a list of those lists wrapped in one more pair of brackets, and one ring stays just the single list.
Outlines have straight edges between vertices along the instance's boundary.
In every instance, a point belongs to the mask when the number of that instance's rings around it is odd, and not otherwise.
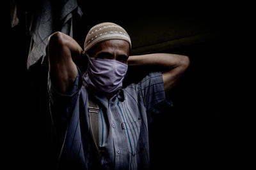
[{"label": "beige knit cap with white pattern on the man's head", "polygon": [[88,32],[84,41],[84,52],[90,50],[97,43],[110,39],[125,40],[129,43],[131,49],[131,39],[124,28],[112,22],[103,22],[95,25]]}]

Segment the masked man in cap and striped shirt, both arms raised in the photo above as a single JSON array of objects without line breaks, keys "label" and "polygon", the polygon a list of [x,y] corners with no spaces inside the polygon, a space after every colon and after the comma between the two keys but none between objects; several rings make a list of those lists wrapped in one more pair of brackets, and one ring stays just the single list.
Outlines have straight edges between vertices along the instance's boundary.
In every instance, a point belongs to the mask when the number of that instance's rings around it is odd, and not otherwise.
[{"label": "masked man in cap and striped shirt, both arms raised", "polygon": [[[148,120],[171,104],[165,92],[189,66],[188,57],[129,56],[129,35],[111,22],[90,29],[84,50],[61,32],[51,35],[47,50],[51,114],[61,142],[58,168],[148,169]],[[122,89],[128,66],[159,72]]]}]

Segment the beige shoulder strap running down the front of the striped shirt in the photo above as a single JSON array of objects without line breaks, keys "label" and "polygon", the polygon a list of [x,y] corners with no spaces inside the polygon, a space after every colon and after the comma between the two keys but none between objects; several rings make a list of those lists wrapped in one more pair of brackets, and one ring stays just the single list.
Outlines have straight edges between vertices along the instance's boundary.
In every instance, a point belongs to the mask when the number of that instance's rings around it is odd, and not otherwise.
[{"label": "beige shoulder strap running down the front of the striped shirt", "polygon": [[99,148],[99,106],[95,104],[90,97],[88,97],[88,115],[89,115],[89,122],[90,122],[90,129],[92,132],[92,137]]}]

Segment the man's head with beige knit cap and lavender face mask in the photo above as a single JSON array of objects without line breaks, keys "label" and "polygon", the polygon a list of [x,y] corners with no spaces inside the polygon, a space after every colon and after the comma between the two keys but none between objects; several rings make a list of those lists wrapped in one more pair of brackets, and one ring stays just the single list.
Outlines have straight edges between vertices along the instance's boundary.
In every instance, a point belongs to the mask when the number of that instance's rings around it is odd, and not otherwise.
[{"label": "man's head with beige knit cap and lavender face mask", "polygon": [[88,84],[112,96],[122,87],[130,50],[131,39],[119,25],[104,22],[92,27],[84,41],[89,57]]}]

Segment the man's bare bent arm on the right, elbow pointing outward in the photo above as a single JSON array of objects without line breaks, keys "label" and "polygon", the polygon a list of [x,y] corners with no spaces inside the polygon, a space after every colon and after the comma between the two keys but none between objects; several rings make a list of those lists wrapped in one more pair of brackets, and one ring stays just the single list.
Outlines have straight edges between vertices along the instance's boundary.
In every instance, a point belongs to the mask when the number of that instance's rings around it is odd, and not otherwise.
[{"label": "man's bare bent arm on the right, elbow pointing outward", "polygon": [[163,73],[164,90],[168,92],[177,83],[180,76],[189,66],[189,58],[185,55],[171,53],[151,53],[132,55],[128,59],[129,66],[150,66]]}]

